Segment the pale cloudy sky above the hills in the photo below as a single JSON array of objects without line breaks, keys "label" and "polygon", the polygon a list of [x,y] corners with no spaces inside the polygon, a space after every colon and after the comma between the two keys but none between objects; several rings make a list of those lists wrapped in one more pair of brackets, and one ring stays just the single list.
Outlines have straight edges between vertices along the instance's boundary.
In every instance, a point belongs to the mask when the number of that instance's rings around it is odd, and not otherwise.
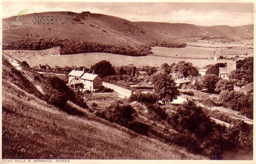
[{"label": "pale cloudy sky above the hills", "polygon": [[87,3],[76,2],[3,2],[3,18],[26,14],[70,11],[107,14],[130,21],[189,23],[199,26],[243,26],[253,24],[253,3]]}]

